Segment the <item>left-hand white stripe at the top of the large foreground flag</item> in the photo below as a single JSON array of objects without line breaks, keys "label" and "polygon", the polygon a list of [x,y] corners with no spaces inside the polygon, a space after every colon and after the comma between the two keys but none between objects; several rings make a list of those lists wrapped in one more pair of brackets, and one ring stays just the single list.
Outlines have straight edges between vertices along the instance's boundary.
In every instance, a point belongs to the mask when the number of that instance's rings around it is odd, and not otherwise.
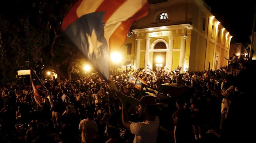
[{"label": "left-hand white stripe at the top of the large foreground flag", "polygon": [[104,0],[82,1],[76,10],[77,17],[95,12]]}]

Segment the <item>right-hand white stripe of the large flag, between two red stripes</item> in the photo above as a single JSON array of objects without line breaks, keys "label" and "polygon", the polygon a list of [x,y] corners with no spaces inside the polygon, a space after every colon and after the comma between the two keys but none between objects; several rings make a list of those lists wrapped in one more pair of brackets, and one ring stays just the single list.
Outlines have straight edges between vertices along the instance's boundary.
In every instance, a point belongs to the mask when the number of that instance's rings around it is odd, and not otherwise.
[{"label": "right-hand white stripe of the large flag, between two red stripes", "polygon": [[108,46],[109,38],[114,31],[122,24],[123,21],[126,21],[128,18],[132,17],[145,4],[147,4],[147,0],[127,0],[111,15],[104,27],[104,31],[108,31],[104,33]]}]

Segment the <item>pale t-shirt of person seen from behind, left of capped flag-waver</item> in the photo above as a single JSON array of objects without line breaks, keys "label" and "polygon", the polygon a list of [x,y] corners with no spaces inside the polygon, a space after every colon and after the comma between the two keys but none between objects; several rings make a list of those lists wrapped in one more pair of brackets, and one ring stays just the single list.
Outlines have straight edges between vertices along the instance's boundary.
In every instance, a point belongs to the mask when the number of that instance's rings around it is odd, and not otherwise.
[{"label": "pale t-shirt of person seen from behind, left of capped flag-waver", "polygon": [[96,122],[87,119],[81,120],[78,129],[82,132],[82,141],[85,143],[93,142],[94,133],[98,131]]}]

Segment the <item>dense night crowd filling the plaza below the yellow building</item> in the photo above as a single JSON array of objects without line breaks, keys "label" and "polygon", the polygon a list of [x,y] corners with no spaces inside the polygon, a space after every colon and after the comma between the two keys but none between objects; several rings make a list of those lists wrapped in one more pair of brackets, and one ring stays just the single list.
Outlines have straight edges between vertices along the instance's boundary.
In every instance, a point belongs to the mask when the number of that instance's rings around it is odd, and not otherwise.
[{"label": "dense night crowd filling the plaza below the yellow building", "polygon": [[[255,67],[247,62],[237,67],[233,73],[227,67],[160,71],[156,78],[142,69],[119,72],[117,79],[111,72],[119,92],[111,91],[99,75],[55,79],[40,88],[40,105],[29,85],[5,85],[0,142],[255,142]],[[141,95],[128,82],[129,74],[157,90],[175,83],[185,91],[177,96],[159,90],[157,98]]]}]

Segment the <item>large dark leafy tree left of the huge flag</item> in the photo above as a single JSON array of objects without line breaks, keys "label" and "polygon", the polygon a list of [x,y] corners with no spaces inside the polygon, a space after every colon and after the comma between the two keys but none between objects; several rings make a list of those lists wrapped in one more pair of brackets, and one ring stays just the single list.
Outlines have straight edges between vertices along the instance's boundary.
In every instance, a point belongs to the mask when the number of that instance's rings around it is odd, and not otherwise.
[{"label": "large dark leafy tree left of the huge flag", "polygon": [[2,83],[11,81],[17,70],[27,69],[25,61],[29,62],[29,67],[40,69],[43,64],[62,78],[70,77],[72,61],[78,52],[62,36],[60,27],[75,1],[1,1]]}]

